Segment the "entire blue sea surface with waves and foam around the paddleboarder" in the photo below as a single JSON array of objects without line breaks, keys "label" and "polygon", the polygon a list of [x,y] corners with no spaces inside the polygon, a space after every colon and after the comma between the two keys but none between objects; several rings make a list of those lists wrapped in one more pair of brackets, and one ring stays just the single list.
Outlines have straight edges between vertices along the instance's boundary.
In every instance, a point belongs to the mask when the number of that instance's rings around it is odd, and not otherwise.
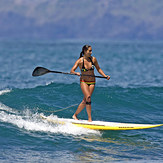
[{"label": "entire blue sea surface with waves and foam around the paddleboarder", "polygon": [[83,95],[77,76],[32,71],[69,72],[84,44],[111,76],[96,80],[93,120],[163,123],[163,42],[0,40],[0,162],[163,161],[163,127],[94,131],[40,118],[71,118]]}]

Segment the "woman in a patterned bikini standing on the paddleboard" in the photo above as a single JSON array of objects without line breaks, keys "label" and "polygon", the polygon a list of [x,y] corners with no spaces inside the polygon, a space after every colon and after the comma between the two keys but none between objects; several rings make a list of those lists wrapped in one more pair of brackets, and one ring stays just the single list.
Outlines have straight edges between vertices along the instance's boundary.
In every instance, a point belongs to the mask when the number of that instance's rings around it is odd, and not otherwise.
[{"label": "woman in a patterned bikini standing on the paddleboard", "polygon": [[[84,45],[82,48],[82,52],[80,53],[79,59],[75,62],[74,66],[71,69],[71,73],[81,76],[80,77],[80,87],[81,87],[81,90],[84,95],[83,101],[79,104],[75,114],[72,117],[73,117],[73,119],[78,120],[77,115],[86,107],[89,122],[92,121],[91,95],[94,91],[95,83],[96,83],[95,77],[93,77],[94,76],[94,68],[96,67],[97,71],[102,76],[107,77],[107,80],[110,79],[110,76],[105,75],[105,73],[99,67],[96,58],[91,56],[91,54],[92,54],[92,47],[89,45]],[[81,70],[81,75],[79,72],[75,72],[75,70],[78,67]]]}]

